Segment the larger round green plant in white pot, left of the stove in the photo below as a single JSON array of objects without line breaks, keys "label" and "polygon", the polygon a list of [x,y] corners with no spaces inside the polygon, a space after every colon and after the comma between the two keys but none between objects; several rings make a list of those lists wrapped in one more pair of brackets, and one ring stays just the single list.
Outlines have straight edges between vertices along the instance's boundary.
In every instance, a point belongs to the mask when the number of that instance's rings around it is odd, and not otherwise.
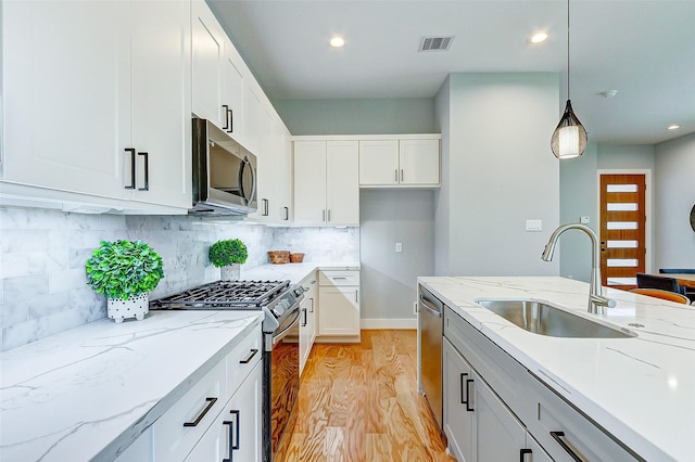
[{"label": "larger round green plant in white pot, left of the stove", "polygon": [[148,292],[164,278],[162,257],[142,241],[101,241],[86,264],[87,283],[106,297],[109,318],[144,319]]}]

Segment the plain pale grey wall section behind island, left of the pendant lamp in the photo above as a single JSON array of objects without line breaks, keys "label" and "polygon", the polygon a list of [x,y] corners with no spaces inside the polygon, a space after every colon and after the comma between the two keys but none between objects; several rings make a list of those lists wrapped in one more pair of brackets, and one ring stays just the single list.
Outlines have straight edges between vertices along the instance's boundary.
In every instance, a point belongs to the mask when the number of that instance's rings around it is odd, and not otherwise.
[{"label": "plain pale grey wall section behind island, left of the pendant lamp", "polygon": [[[448,107],[442,103],[448,92]],[[557,274],[540,256],[559,224],[559,166],[549,150],[559,120],[555,74],[452,74],[438,97],[448,117],[437,215],[440,275]],[[441,204],[438,205],[440,207]],[[527,232],[540,219],[542,232]],[[440,230],[444,228],[444,230]],[[447,233],[440,248],[440,233]]]}]

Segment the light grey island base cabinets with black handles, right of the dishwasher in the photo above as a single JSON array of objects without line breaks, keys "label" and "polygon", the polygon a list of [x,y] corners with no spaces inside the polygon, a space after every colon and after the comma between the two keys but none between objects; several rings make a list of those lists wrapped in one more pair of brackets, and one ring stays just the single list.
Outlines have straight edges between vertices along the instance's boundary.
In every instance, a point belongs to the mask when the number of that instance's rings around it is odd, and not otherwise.
[{"label": "light grey island base cabinets with black handles, right of the dishwasher", "polygon": [[442,357],[443,426],[459,462],[640,460],[448,308]]}]

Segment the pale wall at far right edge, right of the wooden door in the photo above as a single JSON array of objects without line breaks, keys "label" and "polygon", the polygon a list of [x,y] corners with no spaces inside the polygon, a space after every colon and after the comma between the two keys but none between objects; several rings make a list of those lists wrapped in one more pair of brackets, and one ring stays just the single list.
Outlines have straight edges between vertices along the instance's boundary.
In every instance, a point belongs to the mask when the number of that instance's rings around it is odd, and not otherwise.
[{"label": "pale wall at far right edge, right of the wooden door", "polygon": [[695,133],[656,145],[655,267],[695,268]]}]

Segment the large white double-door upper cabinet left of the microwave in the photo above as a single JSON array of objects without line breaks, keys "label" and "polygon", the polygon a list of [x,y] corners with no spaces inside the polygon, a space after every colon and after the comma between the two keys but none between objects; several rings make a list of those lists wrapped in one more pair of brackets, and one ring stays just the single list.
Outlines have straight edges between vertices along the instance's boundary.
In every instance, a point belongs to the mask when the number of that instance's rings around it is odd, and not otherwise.
[{"label": "large white double-door upper cabinet left of the microwave", "polygon": [[2,34],[3,181],[48,201],[186,213],[188,2],[7,2]]}]

